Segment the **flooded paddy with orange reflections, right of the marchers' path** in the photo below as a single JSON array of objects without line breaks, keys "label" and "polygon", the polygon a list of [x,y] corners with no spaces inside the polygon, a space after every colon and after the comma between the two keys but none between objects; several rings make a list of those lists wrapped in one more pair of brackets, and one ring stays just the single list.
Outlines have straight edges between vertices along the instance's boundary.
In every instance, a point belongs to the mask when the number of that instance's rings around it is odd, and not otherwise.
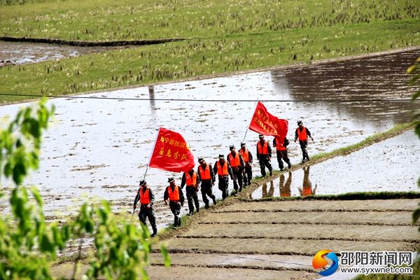
[{"label": "flooded paddy with orange reflections, right of the marchers' path", "polygon": [[405,132],[350,155],[281,174],[255,190],[252,198],[416,191],[419,146],[419,137]]}]

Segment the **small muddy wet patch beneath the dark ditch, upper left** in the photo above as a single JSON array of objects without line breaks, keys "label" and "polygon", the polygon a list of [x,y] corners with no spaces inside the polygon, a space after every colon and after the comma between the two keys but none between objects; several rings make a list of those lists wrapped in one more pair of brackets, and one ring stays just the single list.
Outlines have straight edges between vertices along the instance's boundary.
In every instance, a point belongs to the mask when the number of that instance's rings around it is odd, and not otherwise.
[{"label": "small muddy wet patch beneath the dark ditch, upper left", "polygon": [[104,50],[109,50],[109,48],[0,41],[0,67],[8,64],[27,64],[75,57]]}]

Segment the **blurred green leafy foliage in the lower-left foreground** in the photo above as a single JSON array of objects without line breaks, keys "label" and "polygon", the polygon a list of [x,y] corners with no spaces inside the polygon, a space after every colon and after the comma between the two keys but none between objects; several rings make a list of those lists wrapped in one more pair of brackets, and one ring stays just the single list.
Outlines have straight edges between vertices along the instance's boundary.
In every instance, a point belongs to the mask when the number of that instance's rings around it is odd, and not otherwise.
[{"label": "blurred green leafy foliage in the lower-left foreground", "polygon": [[[38,167],[42,134],[53,112],[43,100],[37,109],[22,109],[6,130],[0,130],[0,174],[16,185],[10,195],[12,215],[0,218],[0,279],[52,279],[50,263],[57,251],[74,239],[81,253],[85,238],[94,239],[95,248],[85,279],[148,279],[144,267],[151,243],[146,228],[117,220],[105,201],[99,206],[83,204],[71,223],[45,223],[40,193],[31,188],[34,204],[21,186],[29,169]],[[165,252],[164,248],[169,265]],[[78,261],[72,278],[77,265]]]}]

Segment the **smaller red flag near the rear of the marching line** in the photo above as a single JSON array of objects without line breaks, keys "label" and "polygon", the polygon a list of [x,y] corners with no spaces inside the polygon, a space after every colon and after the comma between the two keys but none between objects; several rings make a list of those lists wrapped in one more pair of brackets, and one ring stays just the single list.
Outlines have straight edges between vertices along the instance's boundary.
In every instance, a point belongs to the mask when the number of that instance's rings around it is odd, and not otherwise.
[{"label": "smaller red flag near the rear of the marching line", "polygon": [[268,113],[267,108],[261,102],[258,102],[249,129],[260,134],[284,139],[288,131],[288,121]]}]

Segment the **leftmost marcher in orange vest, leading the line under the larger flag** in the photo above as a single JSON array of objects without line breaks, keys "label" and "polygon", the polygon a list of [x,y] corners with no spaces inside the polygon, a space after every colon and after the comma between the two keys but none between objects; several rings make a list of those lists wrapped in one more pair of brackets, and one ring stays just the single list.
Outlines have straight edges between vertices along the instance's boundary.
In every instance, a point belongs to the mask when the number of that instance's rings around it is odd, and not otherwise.
[{"label": "leftmost marcher in orange vest, leading the line under the larger flag", "polygon": [[155,211],[153,211],[153,203],[155,202],[155,196],[152,193],[151,188],[147,185],[146,181],[140,181],[140,188],[137,192],[136,198],[134,199],[133,211],[137,208],[137,203],[140,202],[139,220],[146,226],[146,217],[151,223],[153,234],[152,237],[158,233],[156,228]]}]

